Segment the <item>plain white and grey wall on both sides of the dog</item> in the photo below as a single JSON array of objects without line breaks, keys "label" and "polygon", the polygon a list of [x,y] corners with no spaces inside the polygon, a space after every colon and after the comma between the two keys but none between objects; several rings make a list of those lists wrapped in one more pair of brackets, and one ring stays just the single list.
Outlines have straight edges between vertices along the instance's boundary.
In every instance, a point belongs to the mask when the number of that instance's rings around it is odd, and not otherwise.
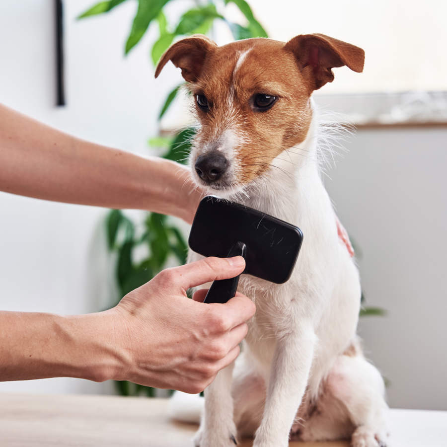
[{"label": "plain white and grey wall on both sides of the dog", "polygon": [[[123,60],[133,2],[75,22],[91,2],[65,1],[68,105],[60,109],[53,105],[52,2],[0,3],[0,102],[81,138],[145,153],[160,102],[179,75],[167,66],[153,80],[150,36]],[[447,409],[446,138],[447,129],[361,131],[326,182],[363,251],[368,305],[388,310],[384,318],[363,319],[360,331],[369,357],[391,382],[392,406]],[[0,308],[100,309],[112,293],[103,282],[104,214],[0,193]],[[111,387],[69,378],[0,383],[0,391],[12,390]]]}]

